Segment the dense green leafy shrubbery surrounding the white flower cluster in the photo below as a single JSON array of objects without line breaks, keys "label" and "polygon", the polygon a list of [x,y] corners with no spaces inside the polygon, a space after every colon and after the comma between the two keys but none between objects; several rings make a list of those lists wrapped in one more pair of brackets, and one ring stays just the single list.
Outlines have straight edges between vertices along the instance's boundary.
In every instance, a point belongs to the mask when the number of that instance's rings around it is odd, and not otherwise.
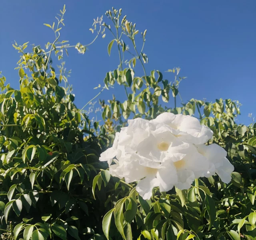
[{"label": "dense green leafy shrubbery surrounding the white flower cluster", "polygon": [[[256,239],[256,124],[236,124],[238,102],[191,99],[176,106],[183,79],[178,77],[180,69],[168,70],[174,73],[172,83],[159,71],[148,75],[144,67],[147,55],[135,44],[135,24],[126,17],[121,19],[121,10],[113,9],[106,12],[111,28],[98,18],[92,31],[104,37],[104,31],[110,30],[114,39],[108,53],[117,44],[120,57],[118,69],[106,74],[102,90],[118,83],[127,100],[101,101],[104,124],[92,122],[74,104],[64,63],[58,74],[52,65],[53,52],[62,61],[64,49],[72,47],[59,39],[64,12],[58,26],[46,24],[56,36],[46,50],[34,46],[26,52],[28,43],[14,45],[21,53],[19,90],[5,85],[0,75],[2,239],[104,239],[104,234],[127,240]],[[143,46],[145,40],[146,31]],[[86,51],[86,45],[74,47],[80,53]],[[132,54],[130,61],[122,60],[126,54]],[[134,74],[136,62],[142,65],[142,77]],[[123,69],[126,63],[129,67]],[[167,104],[170,92],[172,108]],[[160,193],[154,189],[152,199],[145,201],[134,191],[136,183],[129,185],[110,176],[107,165],[98,158],[111,145],[114,132],[125,126],[128,117],[151,119],[164,111],[198,116],[213,130],[210,143],[222,146],[235,166],[230,184],[222,183],[218,176],[198,179],[188,191]]]}]

